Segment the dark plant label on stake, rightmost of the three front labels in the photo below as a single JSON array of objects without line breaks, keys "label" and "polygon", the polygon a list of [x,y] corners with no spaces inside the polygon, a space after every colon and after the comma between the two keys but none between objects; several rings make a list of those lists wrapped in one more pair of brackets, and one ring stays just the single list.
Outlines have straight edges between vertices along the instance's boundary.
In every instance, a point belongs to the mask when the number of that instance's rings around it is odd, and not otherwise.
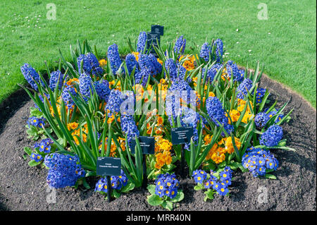
[{"label": "dark plant label on stake, rightmost of the three front labels", "polygon": [[189,143],[190,139],[194,135],[194,129],[192,127],[180,127],[180,128],[172,128],[172,143],[173,145],[181,145],[181,153],[180,153],[180,166],[181,166],[181,176],[185,177],[184,174],[184,164],[185,164],[185,152],[184,152],[184,144]]}]

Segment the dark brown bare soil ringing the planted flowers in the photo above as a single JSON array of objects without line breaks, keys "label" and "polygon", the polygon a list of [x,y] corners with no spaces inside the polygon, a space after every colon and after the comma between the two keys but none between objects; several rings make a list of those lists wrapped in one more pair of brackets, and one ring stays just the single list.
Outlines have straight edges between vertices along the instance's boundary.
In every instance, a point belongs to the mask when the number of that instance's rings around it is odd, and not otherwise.
[{"label": "dark brown bare soil ringing the planted flowers", "polygon": [[[273,150],[280,166],[277,180],[253,178],[236,171],[230,197],[204,202],[204,193],[194,191],[192,179],[180,179],[185,200],[175,210],[316,210],[316,110],[279,83],[263,76],[261,87],[271,91],[279,104],[290,100],[292,120],[283,124],[287,146],[296,152]],[[31,146],[25,123],[30,102],[23,90],[0,106],[0,209],[6,210],[160,210],[147,204],[147,191],[141,188],[108,203],[94,190],[56,190],[56,203],[46,202],[46,169],[30,168],[23,159],[23,147]],[[267,190],[267,202],[259,202]]]}]

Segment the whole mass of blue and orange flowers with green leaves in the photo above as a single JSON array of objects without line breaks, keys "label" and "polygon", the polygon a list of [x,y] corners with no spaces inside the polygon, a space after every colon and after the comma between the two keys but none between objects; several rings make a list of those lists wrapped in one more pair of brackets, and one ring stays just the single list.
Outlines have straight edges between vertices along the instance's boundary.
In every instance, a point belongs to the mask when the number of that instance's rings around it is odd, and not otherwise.
[{"label": "whole mass of blue and orange flowers with green leaves", "polygon": [[[144,36],[145,35],[145,36]],[[49,169],[51,188],[83,185],[97,177],[95,191],[111,197],[133,191],[149,180],[150,205],[173,209],[184,198],[178,176],[192,177],[194,190],[205,190],[205,201],[229,195],[232,171],[276,177],[278,159],[271,150],[285,149],[280,124],[290,120],[287,103],[279,109],[268,90],[259,88],[259,63],[254,72],[224,61],[221,39],[202,44],[185,55],[181,36],[168,49],[147,49],[145,32],[124,59],[118,46],[108,47],[105,59],[84,42],[70,48],[72,62],[61,54],[58,70],[41,73],[25,63],[21,72],[35,102],[27,121],[25,147],[30,166]],[[173,142],[171,130],[191,128],[183,145]],[[154,154],[142,157],[141,137],[154,137]],[[99,157],[119,157],[120,176],[107,182],[97,174]],[[177,167],[187,164],[188,174]]]}]

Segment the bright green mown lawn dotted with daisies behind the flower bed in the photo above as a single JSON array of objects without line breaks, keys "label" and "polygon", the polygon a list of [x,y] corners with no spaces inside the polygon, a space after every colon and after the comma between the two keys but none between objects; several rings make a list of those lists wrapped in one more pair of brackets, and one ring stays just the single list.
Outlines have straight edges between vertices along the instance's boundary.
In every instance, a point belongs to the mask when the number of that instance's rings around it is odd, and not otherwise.
[{"label": "bright green mown lawn dotted with daisies behind the flower bed", "polygon": [[[46,19],[46,4],[56,4],[56,20]],[[0,102],[24,83],[20,66],[37,70],[51,65],[61,48],[89,40],[105,55],[116,43],[128,52],[126,37],[135,39],[152,24],[165,27],[161,44],[184,35],[187,49],[206,37],[221,38],[228,58],[241,66],[265,63],[265,73],[302,94],[316,107],[316,1],[11,1],[0,2]],[[257,18],[259,3],[268,20]],[[238,29],[238,31],[237,31]]]}]

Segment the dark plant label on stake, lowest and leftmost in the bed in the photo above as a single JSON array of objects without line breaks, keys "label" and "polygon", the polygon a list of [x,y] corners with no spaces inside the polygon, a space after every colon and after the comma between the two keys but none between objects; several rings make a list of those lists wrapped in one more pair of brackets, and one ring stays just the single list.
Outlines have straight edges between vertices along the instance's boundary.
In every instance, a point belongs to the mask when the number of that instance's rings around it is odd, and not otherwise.
[{"label": "dark plant label on stake, lowest and leftmost in the bed", "polygon": [[99,176],[106,176],[107,179],[107,197],[111,200],[111,176],[120,176],[121,159],[113,157],[98,157],[96,173]]}]

